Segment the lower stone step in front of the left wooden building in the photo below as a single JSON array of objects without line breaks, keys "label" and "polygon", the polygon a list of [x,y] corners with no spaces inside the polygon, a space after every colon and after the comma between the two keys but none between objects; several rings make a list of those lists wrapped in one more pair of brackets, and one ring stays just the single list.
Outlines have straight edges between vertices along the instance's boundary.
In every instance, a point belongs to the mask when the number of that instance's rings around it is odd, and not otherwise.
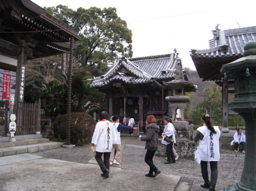
[{"label": "lower stone step in front of the left wooden building", "polygon": [[20,153],[35,153],[38,151],[51,150],[51,149],[59,148],[64,144],[65,142],[48,141],[44,143],[37,143],[37,144],[30,144],[30,145],[3,147],[3,148],[0,148],[0,157],[13,155],[13,154],[20,154]]}]

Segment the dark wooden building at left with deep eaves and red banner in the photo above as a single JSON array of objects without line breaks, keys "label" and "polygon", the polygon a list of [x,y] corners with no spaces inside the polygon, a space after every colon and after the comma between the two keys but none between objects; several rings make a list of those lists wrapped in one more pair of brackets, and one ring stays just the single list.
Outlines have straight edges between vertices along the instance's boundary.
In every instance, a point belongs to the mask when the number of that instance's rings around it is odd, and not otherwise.
[{"label": "dark wooden building at left with deep eaves and red banner", "polygon": [[[40,128],[35,112],[29,113],[27,108],[24,113],[24,86],[29,83],[25,79],[26,61],[70,53],[72,62],[77,47],[73,42],[79,39],[77,31],[30,0],[0,0],[0,108],[14,96],[16,134],[34,133]],[[35,106],[29,107],[34,110]]]}]

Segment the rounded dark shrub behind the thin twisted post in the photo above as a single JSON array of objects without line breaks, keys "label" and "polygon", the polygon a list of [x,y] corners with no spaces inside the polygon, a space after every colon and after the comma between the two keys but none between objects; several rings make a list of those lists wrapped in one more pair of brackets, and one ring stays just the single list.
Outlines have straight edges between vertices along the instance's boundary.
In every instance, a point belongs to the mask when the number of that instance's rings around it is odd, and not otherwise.
[{"label": "rounded dark shrub behind the thin twisted post", "polygon": [[[77,122],[75,123],[76,119]],[[74,145],[85,145],[92,139],[96,122],[94,119],[81,112],[71,113],[70,142]],[[54,120],[55,138],[67,139],[67,114],[59,115]]]}]

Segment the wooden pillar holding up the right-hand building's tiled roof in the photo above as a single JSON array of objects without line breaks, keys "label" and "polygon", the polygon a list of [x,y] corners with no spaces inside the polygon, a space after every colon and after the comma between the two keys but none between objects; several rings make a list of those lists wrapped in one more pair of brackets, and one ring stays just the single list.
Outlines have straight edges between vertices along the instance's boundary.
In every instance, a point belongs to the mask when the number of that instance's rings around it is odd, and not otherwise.
[{"label": "wooden pillar holding up the right-hand building's tiled roof", "polygon": [[222,133],[229,133],[229,82],[228,79],[222,83]]}]

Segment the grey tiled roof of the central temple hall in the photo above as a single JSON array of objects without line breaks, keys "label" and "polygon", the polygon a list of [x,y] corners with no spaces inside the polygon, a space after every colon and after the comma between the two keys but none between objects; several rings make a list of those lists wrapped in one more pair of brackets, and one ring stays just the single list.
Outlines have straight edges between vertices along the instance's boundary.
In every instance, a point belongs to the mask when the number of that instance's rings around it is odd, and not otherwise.
[{"label": "grey tiled roof of the central temple hall", "polygon": [[121,58],[102,76],[94,77],[91,86],[99,88],[112,82],[126,84],[155,83],[174,79],[177,61],[176,53],[151,57]]}]

